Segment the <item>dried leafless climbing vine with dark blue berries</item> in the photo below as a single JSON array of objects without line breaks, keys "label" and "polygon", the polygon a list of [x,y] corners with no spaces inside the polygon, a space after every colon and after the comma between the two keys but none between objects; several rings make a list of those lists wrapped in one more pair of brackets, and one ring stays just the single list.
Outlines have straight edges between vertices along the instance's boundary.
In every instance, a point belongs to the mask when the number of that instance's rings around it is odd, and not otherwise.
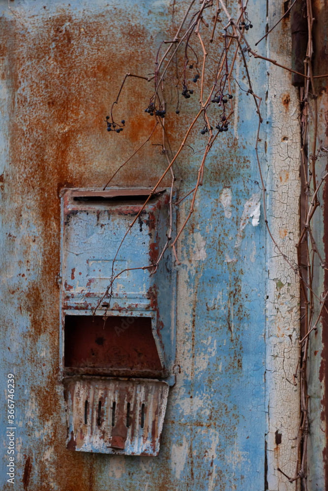
[{"label": "dried leafless climbing vine with dark blue berries", "polygon": [[[282,18],[289,14],[296,2],[297,0],[290,2],[290,6]],[[258,119],[258,128],[255,138],[255,151],[261,178],[263,208],[268,235],[273,241],[277,254],[284,258],[289,268],[298,276],[301,288],[301,297],[304,305],[304,314],[302,314],[302,329],[304,334],[298,341],[298,365],[292,377],[292,383],[294,385],[300,385],[301,395],[300,420],[298,433],[296,435],[297,462],[293,476],[288,476],[285,474],[283,469],[278,468],[278,471],[281,472],[290,482],[295,481],[296,489],[298,489],[298,482],[301,480],[303,489],[306,490],[307,436],[309,426],[309,396],[307,392],[309,339],[311,333],[317,330],[323,310],[325,309],[327,311],[326,300],[328,298],[328,291],[325,292],[323,290],[321,294],[317,295],[313,289],[314,266],[317,258],[319,259],[321,266],[327,269],[322,257],[320,256],[313,233],[313,217],[316,210],[320,208],[319,193],[322,191],[326,178],[328,177],[328,174],[325,174],[320,180],[318,180],[316,176],[316,160],[320,153],[328,152],[328,149],[322,146],[322,140],[318,135],[318,107],[314,79],[326,77],[326,75],[314,75],[312,69],[312,31],[314,24],[312,0],[303,0],[302,16],[307,20],[308,41],[306,56],[303,62],[304,71],[301,72],[298,72],[288,66],[281,65],[277,63],[276,60],[262,56],[257,51],[252,49],[247,41],[247,31],[253,27],[250,20],[251,13],[248,12],[247,3],[248,0],[236,1],[234,6],[236,15],[234,17],[232,13],[227,10],[226,3],[222,0],[192,0],[183,15],[182,21],[174,38],[172,40],[163,40],[163,42],[160,44],[158,52],[154,56],[153,74],[150,76],[143,76],[140,74],[127,73],[124,77],[117,99],[114,101],[110,110],[110,115],[106,116],[105,120],[107,131],[110,133],[110,136],[113,138],[121,137],[118,135],[123,131],[125,125],[128,124],[128,121],[125,122],[125,120],[119,120],[120,118],[117,119],[113,113],[115,106],[119,105],[120,95],[125,88],[126,82],[130,78],[146,80],[152,84],[153,90],[151,96],[149,99],[145,100],[144,108],[141,108],[140,110],[145,111],[145,117],[151,117],[154,119],[154,126],[148,138],[141,142],[140,146],[136,148],[133,154],[119,166],[115,174],[107,182],[104,189],[106,189],[106,187],[111,183],[112,179],[119,172],[119,170],[124,167],[124,165],[126,165],[144,145],[146,145],[155,136],[158,136],[159,132],[161,132],[162,140],[161,153],[165,156],[168,165],[150,192],[149,198],[145,201],[143,206],[140,208],[140,211],[126,230],[113,260],[111,283],[108,285],[104,296],[99,300],[94,313],[105,298],[109,299],[107,310],[110,308],[110,302],[113,296],[113,284],[116,278],[122,273],[121,271],[116,275],[114,274],[114,263],[119,254],[120,247],[126,236],[130,233],[130,230],[134,224],[137,222],[149,199],[157,192],[160,184],[169,172],[172,178],[172,186],[170,196],[170,223],[168,225],[167,241],[163,249],[159,252],[157,260],[142,267],[141,269],[148,269],[150,274],[154,274],[157,270],[159,262],[162,260],[169,248],[172,248],[176,262],[179,264],[176,248],[177,241],[179,240],[181,232],[185,228],[195,210],[195,199],[197,193],[200,191],[200,187],[203,184],[204,174],[206,172],[207,157],[213,147],[214,141],[217,138],[220,138],[221,134],[231,131],[232,116],[235,112],[235,96],[232,90],[231,82],[236,80],[234,78],[234,70],[237,56],[239,56],[248,84],[247,90],[244,90],[244,92],[246,96],[251,96],[253,98],[254,109]],[[178,8],[177,5],[175,8]],[[206,20],[209,18],[211,19],[211,25],[209,25]],[[277,26],[277,24],[279,24],[282,18],[275,24],[275,26],[268,30],[267,34],[263,36],[256,43],[256,45],[258,45],[270,34],[270,32]],[[225,24],[223,28],[219,27],[222,25],[222,23]],[[204,31],[208,29],[210,29],[210,39],[206,45],[204,41]],[[212,71],[207,70],[209,57],[211,64],[214,64],[216,67],[214,76]],[[297,263],[295,263],[295,261],[290,258],[277,244],[268,224],[266,212],[267,190],[263,179],[262,164],[259,155],[259,135],[261,124],[263,122],[261,116],[262,98],[260,95],[254,92],[248,70],[248,64],[252,57],[262,59],[268,63],[280,67],[282,70],[292,72],[293,74],[298,75],[298,77],[301,77],[304,82],[303,86],[299,90],[299,124],[301,133],[301,172],[303,172],[303,180],[305,183],[304,189],[301,190],[301,193],[303,193],[302,198],[306,203],[306,217],[304,219],[304,223],[302,224],[298,243],[296,244],[298,250]],[[175,76],[172,76],[172,73],[170,73],[170,76],[168,75],[171,69],[173,69],[173,72],[175,72]],[[187,132],[183,138],[181,138],[179,149],[175,154],[172,152],[165,127],[165,117],[167,114],[165,88],[169,83],[173,84],[174,89],[177,91],[177,104],[175,108],[176,117],[183,116],[183,111],[180,108],[181,98],[188,100],[195,97],[196,94],[199,96],[199,110],[194,115],[193,121]],[[241,88],[241,90],[243,89]],[[312,103],[313,111],[311,109]],[[116,110],[115,112],[118,111]],[[200,133],[205,138],[205,146],[202,150],[203,155],[200,159],[197,175],[195,175],[195,187],[188,194],[179,198],[178,201],[173,203],[172,192],[175,181],[174,164],[181,152],[185,151],[187,146],[191,146],[189,145],[191,131],[194,129],[194,127],[196,127],[196,124],[198,124],[199,121],[202,121]],[[311,135],[311,148],[308,150],[309,135]],[[178,206],[181,201],[183,201],[189,195],[192,195],[189,212],[177,234],[175,237],[173,237],[172,206],[173,204]],[[302,264],[302,251],[303,253],[305,251],[306,256],[305,268]],[[315,315],[315,312],[317,312],[317,315]]]}]

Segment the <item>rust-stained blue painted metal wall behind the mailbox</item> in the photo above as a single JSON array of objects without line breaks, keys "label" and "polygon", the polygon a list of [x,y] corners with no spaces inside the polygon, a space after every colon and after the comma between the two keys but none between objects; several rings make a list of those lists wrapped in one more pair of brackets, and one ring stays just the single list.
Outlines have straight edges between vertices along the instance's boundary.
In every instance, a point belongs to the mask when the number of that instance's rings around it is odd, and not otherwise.
[{"label": "rust-stained blue painted metal wall behind the mailbox", "polygon": [[[240,60],[239,80],[233,83],[239,98],[234,132],[215,142],[195,212],[181,234],[181,264],[176,268],[177,383],[170,389],[160,452],[149,458],[65,448],[59,355],[60,191],[102,188],[149,136],[153,122],[144,113],[145,88],[135,82],[128,82],[122,96],[124,132],[112,138],[103,119],[128,70],[153,70],[149,54],[173,35],[187,3],[179,1],[172,23],[172,2],[164,0],[10,1],[10,9],[7,1],[0,2],[0,174],[5,210],[0,363],[2,372],[14,372],[16,379],[17,490],[264,488],[266,233],[262,214],[259,226],[249,221],[261,190],[254,151],[257,121],[237,83],[243,77]],[[254,24],[256,20],[256,29],[249,32],[254,44],[265,31],[266,9],[258,0],[249,5]],[[263,63],[252,59],[249,70],[254,90],[265,98]],[[175,148],[198,103],[183,105],[184,117],[177,118],[174,97],[168,101],[166,127]],[[265,136],[266,130],[261,130],[262,141]],[[160,143],[160,136],[156,138]],[[200,136],[194,142],[195,150],[203,148]],[[157,149],[145,145],[113,184],[153,186],[166,166]],[[264,147],[261,158],[266,161]],[[199,154],[186,148],[175,168],[181,196],[193,189],[198,167]],[[170,186],[167,179],[163,187]],[[179,207],[178,226],[188,205],[186,199]],[[174,322],[175,313],[170,315]],[[3,470],[5,427],[1,441],[1,486],[9,490]]]}]

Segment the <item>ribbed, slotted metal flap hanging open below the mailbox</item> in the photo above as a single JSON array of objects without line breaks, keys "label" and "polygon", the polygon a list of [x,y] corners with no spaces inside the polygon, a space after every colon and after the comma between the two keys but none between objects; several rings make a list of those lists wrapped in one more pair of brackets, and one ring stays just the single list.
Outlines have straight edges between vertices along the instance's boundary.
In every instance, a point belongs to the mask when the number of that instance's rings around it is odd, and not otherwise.
[{"label": "ribbed, slotted metal flap hanging open below the mailbox", "polygon": [[158,455],[166,382],[74,376],[63,384],[69,450]]}]

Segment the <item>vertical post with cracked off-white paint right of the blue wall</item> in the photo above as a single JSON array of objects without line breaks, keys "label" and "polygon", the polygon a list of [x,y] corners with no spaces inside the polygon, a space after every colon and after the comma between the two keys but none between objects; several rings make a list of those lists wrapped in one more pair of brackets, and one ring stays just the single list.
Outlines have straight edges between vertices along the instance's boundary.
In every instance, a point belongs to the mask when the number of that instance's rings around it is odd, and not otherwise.
[{"label": "vertical post with cracked off-white paint right of the blue wall", "polygon": [[[269,2],[269,25],[280,11],[278,0]],[[286,64],[290,60],[290,26],[277,26],[270,38],[268,57]],[[298,239],[299,203],[299,127],[298,92],[292,87],[290,74],[273,65],[268,66],[268,120],[273,121],[268,134],[268,179],[266,187],[268,225],[282,251],[293,261]],[[282,104],[289,94],[288,107]],[[283,138],[288,135],[288,140]],[[262,169],[265,171],[265,168]],[[298,359],[299,283],[286,261],[277,254],[267,239],[268,301],[266,327],[266,407],[268,411],[268,490],[294,491],[277,471],[294,475],[296,465],[295,437],[299,417],[299,388],[290,383]],[[281,288],[277,289],[277,279]],[[281,436],[279,445],[275,432]]]}]

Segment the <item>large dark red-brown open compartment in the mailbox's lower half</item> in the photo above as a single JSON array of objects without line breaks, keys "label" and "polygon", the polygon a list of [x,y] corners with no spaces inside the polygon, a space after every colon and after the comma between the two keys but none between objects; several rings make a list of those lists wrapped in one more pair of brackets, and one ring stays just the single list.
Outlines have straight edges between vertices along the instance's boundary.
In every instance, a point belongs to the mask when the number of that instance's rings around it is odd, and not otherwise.
[{"label": "large dark red-brown open compartment in the mailbox's lower half", "polygon": [[163,376],[151,318],[65,315],[64,371],[90,375]]}]

